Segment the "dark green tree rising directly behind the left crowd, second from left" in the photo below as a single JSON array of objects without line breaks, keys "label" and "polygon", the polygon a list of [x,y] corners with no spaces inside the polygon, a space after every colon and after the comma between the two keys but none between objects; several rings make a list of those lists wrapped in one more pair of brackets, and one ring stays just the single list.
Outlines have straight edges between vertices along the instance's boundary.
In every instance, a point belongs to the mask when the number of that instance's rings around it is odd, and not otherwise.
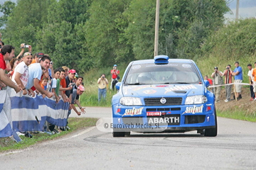
[{"label": "dark green tree rising directly behind the left crowd, second from left", "polygon": [[90,3],[88,0],[60,0],[50,6],[47,22],[37,37],[41,50],[50,54],[55,66],[66,65],[84,71],[92,65],[85,62],[85,58],[90,58],[85,47],[85,31],[80,30],[87,21]]}]

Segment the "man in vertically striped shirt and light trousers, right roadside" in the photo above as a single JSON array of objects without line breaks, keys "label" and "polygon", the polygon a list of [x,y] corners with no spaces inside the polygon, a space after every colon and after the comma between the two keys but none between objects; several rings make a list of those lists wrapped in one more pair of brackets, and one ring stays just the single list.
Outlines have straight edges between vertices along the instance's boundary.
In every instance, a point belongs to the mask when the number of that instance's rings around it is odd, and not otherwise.
[{"label": "man in vertically striped shirt and light trousers, right roadside", "polygon": [[231,96],[231,89],[232,89],[232,74],[233,71],[231,69],[231,65],[228,64],[225,72],[223,73],[223,76],[225,76],[225,84],[230,84],[225,86],[225,92],[226,92],[226,99],[225,102],[231,101],[230,96]]}]

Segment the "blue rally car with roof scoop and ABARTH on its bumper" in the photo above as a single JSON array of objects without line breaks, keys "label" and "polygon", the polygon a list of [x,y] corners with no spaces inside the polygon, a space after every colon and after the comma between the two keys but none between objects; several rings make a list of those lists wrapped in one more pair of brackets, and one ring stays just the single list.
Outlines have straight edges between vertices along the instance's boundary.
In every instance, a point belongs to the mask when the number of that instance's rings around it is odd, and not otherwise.
[{"label": "blue rally car with roof scoop and ABARTH on its bumper", "polygon": [[159,55],[130,62],[112,97],[112,135],[188,132],[217,135],[215,97],[196,63]]}]

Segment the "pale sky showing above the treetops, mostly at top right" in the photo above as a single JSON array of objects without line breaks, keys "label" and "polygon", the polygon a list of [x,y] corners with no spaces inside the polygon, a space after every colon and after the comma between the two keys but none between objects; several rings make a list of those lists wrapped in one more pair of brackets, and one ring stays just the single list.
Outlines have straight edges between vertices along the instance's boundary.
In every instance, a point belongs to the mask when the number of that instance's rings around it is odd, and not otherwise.
[{"label": "pale sky showing above the treetops, mostly at top right", "polygon": [[[0,4],[4,4],[6,0],[0,0]],[[16,2],[17,0],[11,0]],[[40,1],[40,0],[39,0]],[[214,1],[214,0],[212,0]],[[224,16],[227,20],[235,19],[236,3],[237,0],[225,0],[228,1],[228,7],[231,10],[231,13],[226,13]],[[160,0],[161,5],[161,0]],[[1,13],[0,13],[1,16]],[[256,17],[256,0],[239,0],[239,18],[255,18]]]}]

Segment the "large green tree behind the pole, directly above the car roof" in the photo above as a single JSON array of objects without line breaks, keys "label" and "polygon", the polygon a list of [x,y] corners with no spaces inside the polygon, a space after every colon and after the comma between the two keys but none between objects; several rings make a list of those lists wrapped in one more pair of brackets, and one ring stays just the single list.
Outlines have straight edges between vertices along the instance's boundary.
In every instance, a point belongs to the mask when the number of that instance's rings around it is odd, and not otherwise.
[{"label": "large green tree behind the pole, directly above the car roof", "polygon": [[[124,15],[125,36],[136,59],[154,55],[155,1],[133,0]],[[228,7],[223,0],[162,0],[159,21],[159,55],[191,58],[213,30],[223,25]]]}]

